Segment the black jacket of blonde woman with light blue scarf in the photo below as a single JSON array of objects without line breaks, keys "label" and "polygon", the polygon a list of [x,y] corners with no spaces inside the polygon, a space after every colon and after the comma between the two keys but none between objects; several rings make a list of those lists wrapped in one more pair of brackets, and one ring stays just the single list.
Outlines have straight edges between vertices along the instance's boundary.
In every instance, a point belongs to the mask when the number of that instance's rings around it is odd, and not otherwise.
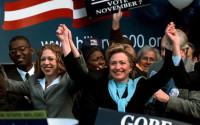
[{"label": "black jacket of blonde woman with light blue scarf", "polygon": [[[138,81],[136,91],[126,107],[126,112],[143,113],[146,101],[154,92],[168,82],[173,70],[171,56],[171,53],[166,56],[169,62],[166,61],[163,68],[156,75],[150,79],[141,78]],[[90,72],[84,75],[81,73],[81,69],[68,70],[68,73],[70,76],[75,75],[71,77],[76,77],[74,80],[89,84],[82,95],[80,125],[93,125],[99,107],[117,110],[117,104],[111,98],[108,91],[108,69],[104,69],[103,75],[94,75],[99,72]],[[124,96],[126,96],[126,93]]]}]

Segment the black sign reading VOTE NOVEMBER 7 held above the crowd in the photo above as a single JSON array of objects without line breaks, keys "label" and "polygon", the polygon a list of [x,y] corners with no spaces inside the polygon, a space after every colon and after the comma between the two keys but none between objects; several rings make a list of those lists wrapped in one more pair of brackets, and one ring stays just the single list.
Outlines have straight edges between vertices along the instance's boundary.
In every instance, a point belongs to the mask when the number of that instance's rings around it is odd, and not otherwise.
[{"label": "black sign reading VOTE NOVEMBER 7 held above the crowd", "polygon": [[88,18],[109,15],[150,4],[150,0],[84,0]]}]

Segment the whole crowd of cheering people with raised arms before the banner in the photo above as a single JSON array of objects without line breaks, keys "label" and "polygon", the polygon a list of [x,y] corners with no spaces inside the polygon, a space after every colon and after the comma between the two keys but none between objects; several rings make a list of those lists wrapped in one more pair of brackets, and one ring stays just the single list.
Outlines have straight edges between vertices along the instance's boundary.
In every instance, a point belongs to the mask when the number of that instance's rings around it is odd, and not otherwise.
[{"label": "whole crowd of cheering people with raised arms before the banner", "polygon": [[122,36],[119,9],[113,14],[110,45],[97,38],[78,50],[71,31],[60,24],[62,46],[34,49],[28,38],[9,42],[12,70],[0,66],[0,111],[45,110],[49,118],[75,118],[93,125],[98,108],[159,116],[200,124],[199,55],[186,34],[170,22],[161,52],[145,45],[136,54]]}]

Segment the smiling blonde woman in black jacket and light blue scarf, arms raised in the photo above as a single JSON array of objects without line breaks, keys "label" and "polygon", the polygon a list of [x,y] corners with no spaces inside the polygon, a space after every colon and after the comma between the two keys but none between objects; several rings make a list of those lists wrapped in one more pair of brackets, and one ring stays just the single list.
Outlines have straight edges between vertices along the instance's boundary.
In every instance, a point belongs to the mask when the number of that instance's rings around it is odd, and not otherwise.
[{"label": "smiling blonde woman in black jacket and light blue scarf, arms raised", "polygon": [[[65,56],[76,50],[67,34],[71,34],[69,29],[60,25],[57,36],[65,46]],[[72,58],[68,59],[70,60],[67,62],[73,61]],[[119,112],[143,113],[146,101],[169,81],[174,68],[172,53],[167,50],[164,66],[156,75],[150,79],[135,78],[136,54],[133,47],[127,44],[108,47],[106,60],[108,68],[102,69],[103,75],[96,75],[98,72],[85,72],[79,65],[76,66],[79,69],[74,70],[74,67],[68,70],[71,78],[82,82],[86,89],[81,100],[80,125],[94,124],[99,107]]]}]

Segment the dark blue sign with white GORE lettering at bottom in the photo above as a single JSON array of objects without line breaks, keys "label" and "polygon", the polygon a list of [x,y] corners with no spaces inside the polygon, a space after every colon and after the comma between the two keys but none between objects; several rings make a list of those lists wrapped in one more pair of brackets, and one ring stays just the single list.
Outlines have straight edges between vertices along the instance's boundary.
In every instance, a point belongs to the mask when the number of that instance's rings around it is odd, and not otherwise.
[{"label": "dark blue sign with white GORE lettering at bottom", "polygon": [[99,108],[95,125],[189,125],[184,122]]}]

